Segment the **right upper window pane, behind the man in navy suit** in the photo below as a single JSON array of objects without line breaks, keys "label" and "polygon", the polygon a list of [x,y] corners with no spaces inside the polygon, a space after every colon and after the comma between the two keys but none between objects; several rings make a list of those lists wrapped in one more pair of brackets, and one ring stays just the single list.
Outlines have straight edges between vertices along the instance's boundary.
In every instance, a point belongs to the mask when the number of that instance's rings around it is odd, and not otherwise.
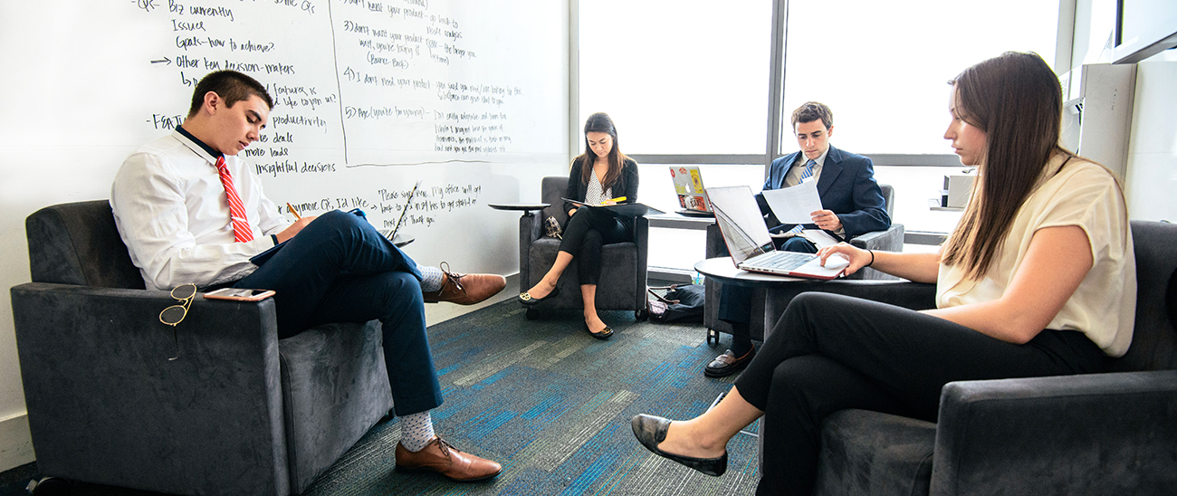
[{"label": "right upper window pane, behind the man in navy suit", "polygon": [[836,147],[950,154],[946,82],[1008,51],[1053,66],[1057,32],[1057,0],[789,0],[779,152],[796,150],[792,110],[816,100],[833,110]]}]

